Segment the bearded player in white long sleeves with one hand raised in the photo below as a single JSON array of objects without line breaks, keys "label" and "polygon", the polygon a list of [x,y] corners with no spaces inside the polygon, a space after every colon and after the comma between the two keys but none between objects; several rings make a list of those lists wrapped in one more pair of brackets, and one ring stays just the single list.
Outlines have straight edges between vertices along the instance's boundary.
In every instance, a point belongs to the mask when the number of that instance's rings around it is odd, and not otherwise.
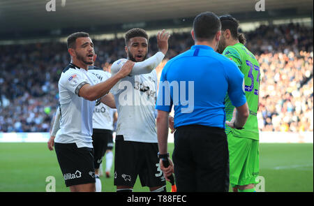
[{"label": "bearded player in white long sleeves with one hand raised", "polygon": [[[165,57],[170,34],[157,35],[160,52],[146,59],[148,36],[143,29],[126,32],[127,58],[135,61],[130,75],[112,87],[117,105],[117,135],[114,156],[114,185],[119,192],[133,191],[137,175],[142,186],[150,191],[166,191],[165,177],[160,170],[156,133],[156,66]],[[119,72],[128,59],[112,64],[112,75]],[[145,60],[146,59],[146,60]]]}]

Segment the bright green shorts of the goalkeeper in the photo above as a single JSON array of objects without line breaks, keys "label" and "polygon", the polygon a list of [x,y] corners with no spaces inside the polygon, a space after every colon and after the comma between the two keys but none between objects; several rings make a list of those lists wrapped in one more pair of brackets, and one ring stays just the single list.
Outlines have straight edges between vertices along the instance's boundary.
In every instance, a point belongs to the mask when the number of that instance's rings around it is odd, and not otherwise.
[{"label": "bright green shorts of the goalkeeper", "polygon": [[258,140],[237,138],[232,131],[227,135],[230,159],[230,184],[257,184],[260,173]]}]

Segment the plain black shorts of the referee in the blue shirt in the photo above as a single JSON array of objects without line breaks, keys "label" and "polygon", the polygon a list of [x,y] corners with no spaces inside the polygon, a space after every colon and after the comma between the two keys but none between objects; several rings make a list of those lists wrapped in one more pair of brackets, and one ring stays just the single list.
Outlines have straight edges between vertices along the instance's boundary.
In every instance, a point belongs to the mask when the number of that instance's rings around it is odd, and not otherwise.
[{"label": "plain black shorts of the referee in the blue shirt", "polygon": [[223,128],[179,126],[174,133],[177,191],[229,191],[229,152]]}]

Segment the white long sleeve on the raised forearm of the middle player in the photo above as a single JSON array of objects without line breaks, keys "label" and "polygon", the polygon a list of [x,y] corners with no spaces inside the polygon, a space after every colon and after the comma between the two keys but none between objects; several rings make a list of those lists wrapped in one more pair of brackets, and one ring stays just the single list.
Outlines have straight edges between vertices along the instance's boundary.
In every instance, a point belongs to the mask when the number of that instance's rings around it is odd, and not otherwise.
[{"label": "white long sleeve on the raised forearm of the middle player", "polygon": [[165,57],[163,52],[157,52],[154,56],[149,57],[149,59],[146,59],[145,61],[136,62],[130,72],[130,75],[151,73],[151,71],[153,71],[161,61],[163,61],[163,57]]}]

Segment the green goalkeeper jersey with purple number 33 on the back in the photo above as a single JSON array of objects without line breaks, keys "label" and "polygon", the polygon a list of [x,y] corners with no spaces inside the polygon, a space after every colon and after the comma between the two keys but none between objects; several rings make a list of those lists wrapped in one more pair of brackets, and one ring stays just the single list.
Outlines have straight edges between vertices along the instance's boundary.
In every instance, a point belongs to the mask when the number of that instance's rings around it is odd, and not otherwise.
[{"label": "green goalkeeper jersey with purple number 33 on the back", "polygon": [[[233,135],[236,137],[259,140],[257,108],[260,89],[260,65],[255,59],[255,56],[241,43],[226,47],[223,51],[223,55],[234,61],[240,71],[244,74],[244,89],[249,109],[249,116],[244,125],[244,129],[232,129],[226,124],[225,132],[229,133],[232,130]],[[232,119],[233,111],[234,106],[232,105],[229,96],[226,95],[225,113],[226,120],[229,122]]]}]

